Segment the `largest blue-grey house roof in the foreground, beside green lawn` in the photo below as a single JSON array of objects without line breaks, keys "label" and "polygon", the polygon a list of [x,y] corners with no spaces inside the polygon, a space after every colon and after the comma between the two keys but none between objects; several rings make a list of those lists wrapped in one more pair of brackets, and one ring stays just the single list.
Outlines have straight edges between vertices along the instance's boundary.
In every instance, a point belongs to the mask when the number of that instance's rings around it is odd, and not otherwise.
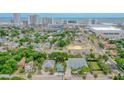
[{"label": "largest blue-grey house roof in the foreground, beside green lawn", "polygon": [[87,66],[87,62],[84,58],[69,58],[67,65],[72,69],[78,69],[82,66]]}]

